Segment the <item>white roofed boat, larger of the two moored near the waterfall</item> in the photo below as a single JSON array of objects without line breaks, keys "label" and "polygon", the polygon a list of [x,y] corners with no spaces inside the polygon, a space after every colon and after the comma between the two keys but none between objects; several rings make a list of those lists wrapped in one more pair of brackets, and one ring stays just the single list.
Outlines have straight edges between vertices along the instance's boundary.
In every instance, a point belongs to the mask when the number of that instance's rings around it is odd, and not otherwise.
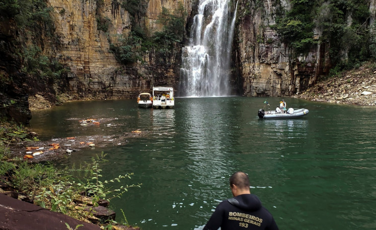
[{"label": "white roofed boat, larger of the two moored near the waterfall", "polygon": [[172,87],[153,87],[153,108],[173,108],[175,105]]}]

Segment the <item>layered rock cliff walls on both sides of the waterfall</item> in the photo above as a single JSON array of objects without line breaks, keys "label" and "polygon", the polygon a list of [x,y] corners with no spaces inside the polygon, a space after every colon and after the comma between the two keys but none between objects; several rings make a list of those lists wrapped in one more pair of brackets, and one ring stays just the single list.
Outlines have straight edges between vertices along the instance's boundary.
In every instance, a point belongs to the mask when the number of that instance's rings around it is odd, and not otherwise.
[{"label": "layered rock cliff walls on both sides of the waterfall", "polygon": [[[157,22],[163,7],[170,12],[179,7],[178,0],[143,1],[148,5],[143,15],[138,17],[137,23],[145,26],[149,36],[163,28]],[[0,83],[6,90],[2,92],[0,99],[7,105],[12,103],[12,99],[19,102],[18,109],[17,106],[6,106],[2,108],[2,114],[28,120],[30,112],[27,110],[27,97],[36,93],[54,103],[56,94],[62,92],[71,94],[74,98],[135,98],[142,91],[151,91],[152,86],[168,85],[177,88],[183,44],[177,44],[165,57],[150,50],[144,55],[143,62],[132,65],[119,64],[110,52],[110,44],[116,43],[120,35],[127,37],[135,23],[132,15],[122,7],[121,3],[124,1],[47,2],[53,8],[51,15],[56,28],[56,41],[48,37],[38,39],[44,41],[41,47],[43,53],[57,57],[70,71],[62,82],[47,82],[47,87],[22,74],[22,60],[10,55],[19,46],[16,25],[0,16],[0,76],[5,79]],[[198,0],[181,2],[188,13],[188,34],[192,16],[197,13]],[[290,0],[233,0],[231,4],[236,2],[238,8],[231,63],[233,92],[245,96],[290,96],[305,90],[319,76],[328,73],[330,60],[326,43],[318,43],[307,54],[293,56],[289,46],[271,29],[270,26],[276,24],[277,12],[281,8],[292,7]],[[373,23],[376,1],[370,0],[369,5],[369,23]],[[102,19],[107,23],[105,30],[98,24]],[[318,41],[321,31],[317,28],[314,31],[313,40]],[[57,84],[60,85],[56,86]],[[13,114],[22,108],[26,108],[19,113],[22,116]]]}]

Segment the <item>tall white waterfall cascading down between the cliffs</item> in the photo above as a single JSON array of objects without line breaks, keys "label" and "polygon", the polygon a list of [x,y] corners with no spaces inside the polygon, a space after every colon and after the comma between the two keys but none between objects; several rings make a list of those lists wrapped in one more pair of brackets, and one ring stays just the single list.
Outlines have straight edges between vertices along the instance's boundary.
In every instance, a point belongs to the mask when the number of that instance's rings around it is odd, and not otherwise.
[{"label": "tall white waterfall cascading down between the cliffs", "polygon": [[236,17],[230,0],[200,0],[189,45],[182,50],[181,96],[228,96],[230,54]]}]

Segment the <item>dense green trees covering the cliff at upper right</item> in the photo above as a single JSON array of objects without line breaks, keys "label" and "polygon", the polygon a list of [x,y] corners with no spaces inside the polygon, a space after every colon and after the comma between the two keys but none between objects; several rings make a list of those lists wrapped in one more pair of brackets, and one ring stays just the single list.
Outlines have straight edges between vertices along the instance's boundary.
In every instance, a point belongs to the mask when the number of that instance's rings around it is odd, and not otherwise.
[{"label": "dense green trees covering the cliff at upper right", "polygon": [[[375,32],[370,30],[367,0],[292,0],[291,9],[280,9],[276,15],[281,39],[295,51],[306,54],[321,43],[328,48],[332,74],[348,70],[376,57]],[[322,34],[314,39],[313,29]]]}]

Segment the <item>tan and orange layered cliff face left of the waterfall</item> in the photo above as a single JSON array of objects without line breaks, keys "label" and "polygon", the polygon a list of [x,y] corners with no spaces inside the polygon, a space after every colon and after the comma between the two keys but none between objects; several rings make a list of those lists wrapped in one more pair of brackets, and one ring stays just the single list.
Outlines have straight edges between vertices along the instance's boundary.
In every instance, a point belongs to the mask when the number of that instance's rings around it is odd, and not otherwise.
[{"label": "tan and orange layered cliff face left of the waterfall", "polygon": [[[149,53],[143,59],[130,66],[121,66],[109,52],[110,42],[117,36],[125,37],[131,31],[132,22],[129,12],[116,0],[49,0],[54,8],[56,34],[61,46],[58,51],[47,47],[46,52],[59,56],[67,63],[71,71],[67,81],[70,91],[77,97],[94,98],[135,98],[142,91],[150,91],[152,86],[175,86],[178,75],[181,49],[169,57],[168,62]],[[184,3],[189,9],[190,3]],[[162,7],[171,12],[178,7],[176,0],[150,0],[145,25],[149,32],[162,26],[156,23]],[[98,17],[106,18],[106,32],[98,30]],[[169,64],[169,65],[166,65]]]}]

